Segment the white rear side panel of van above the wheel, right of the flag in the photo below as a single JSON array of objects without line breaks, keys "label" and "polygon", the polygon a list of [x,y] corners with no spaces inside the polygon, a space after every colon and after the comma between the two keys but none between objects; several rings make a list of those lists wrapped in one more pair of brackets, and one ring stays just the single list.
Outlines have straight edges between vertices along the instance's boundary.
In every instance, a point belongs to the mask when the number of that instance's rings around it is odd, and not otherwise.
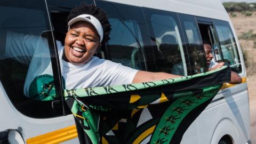
[{"label": "white rear side panel of van above the wheel, right of the flag", "polygon": [[[241,97],[241,95],[245,97]],[[198,131],[200,143],[204,143],[205,141],[216,143],[216,141],[220,140],[220,138],[226,134],[234,135],[235,137],[231,138],[234,139],[235,143],[245,143],[245,141],[250,138],[249,101],[246,95],[247,92],[241,92],[234,94],[232,98],[222,99],[218,105],[214,106],[214,103],[211,103],[203,113],[197,117],[196,121],[199,123]],[[225,111],[223,112],[223,110]],[[228,120],[223,121],[223,119]],[[222,123],[224,125],[222,125]],[[205,127],[207,127],[207,129],[205,129]],[[223,132],[225,133],[223,134]]]}]

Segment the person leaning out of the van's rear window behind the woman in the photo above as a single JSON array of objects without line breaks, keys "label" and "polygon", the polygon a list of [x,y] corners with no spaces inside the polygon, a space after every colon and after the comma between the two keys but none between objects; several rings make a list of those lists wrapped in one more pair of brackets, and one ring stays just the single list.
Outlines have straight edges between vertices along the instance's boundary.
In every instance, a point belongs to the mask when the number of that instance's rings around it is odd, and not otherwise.
[{"label": "person leaning out of the van's rear window behind the woman", "polygon": [[[214,61],[213,54],[212,54],[212,46],[210,43],[204,42],[204,51],[205,51],[206,63],[207,63],[207,66],[209,66],[209,70],[218,69],[226,65],[225,62]],[[229,83],[230,84],[242,83],[242,78],[235,71],[231,71],[231,80]]]}]

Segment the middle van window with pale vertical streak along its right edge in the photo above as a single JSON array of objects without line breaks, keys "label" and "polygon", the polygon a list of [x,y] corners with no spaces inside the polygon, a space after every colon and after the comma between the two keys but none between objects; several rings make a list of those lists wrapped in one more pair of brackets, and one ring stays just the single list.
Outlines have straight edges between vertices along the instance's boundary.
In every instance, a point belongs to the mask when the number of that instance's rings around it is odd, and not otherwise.
[{"label": "middle van window with pale vertical streak along its right edge", "polygon": [[185,55],[179,29],[175,20],[166,15],[151,15],[157,45],[157,70],[177,75],[187,75]]}]

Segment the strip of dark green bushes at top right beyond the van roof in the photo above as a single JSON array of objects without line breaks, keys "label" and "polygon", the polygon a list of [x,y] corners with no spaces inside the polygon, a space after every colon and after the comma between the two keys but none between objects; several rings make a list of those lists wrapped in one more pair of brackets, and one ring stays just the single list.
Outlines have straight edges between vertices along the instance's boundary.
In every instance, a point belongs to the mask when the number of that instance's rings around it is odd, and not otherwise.
[{"label": "strip of dark green bushes at top right beyond the van roof", "polygon": [[[256,11],[256,3],[235,3],[235,2],[227,2],[222,3],[227,12],[252,12]],[[245,13],[246,16],[251,16],[252,13]]]}]

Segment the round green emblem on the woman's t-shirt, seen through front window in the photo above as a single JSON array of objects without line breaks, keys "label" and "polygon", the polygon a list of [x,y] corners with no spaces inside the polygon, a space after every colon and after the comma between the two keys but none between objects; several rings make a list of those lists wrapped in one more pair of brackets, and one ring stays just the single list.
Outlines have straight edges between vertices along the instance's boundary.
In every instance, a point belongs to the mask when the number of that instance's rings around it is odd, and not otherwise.
[{"label": "round green emblem on the woman's t-shirt, seen through front window", "polygon": [[53,76],[36,76],[29,86],[29,97],[35,100],[54,100],[56,93]]}]

